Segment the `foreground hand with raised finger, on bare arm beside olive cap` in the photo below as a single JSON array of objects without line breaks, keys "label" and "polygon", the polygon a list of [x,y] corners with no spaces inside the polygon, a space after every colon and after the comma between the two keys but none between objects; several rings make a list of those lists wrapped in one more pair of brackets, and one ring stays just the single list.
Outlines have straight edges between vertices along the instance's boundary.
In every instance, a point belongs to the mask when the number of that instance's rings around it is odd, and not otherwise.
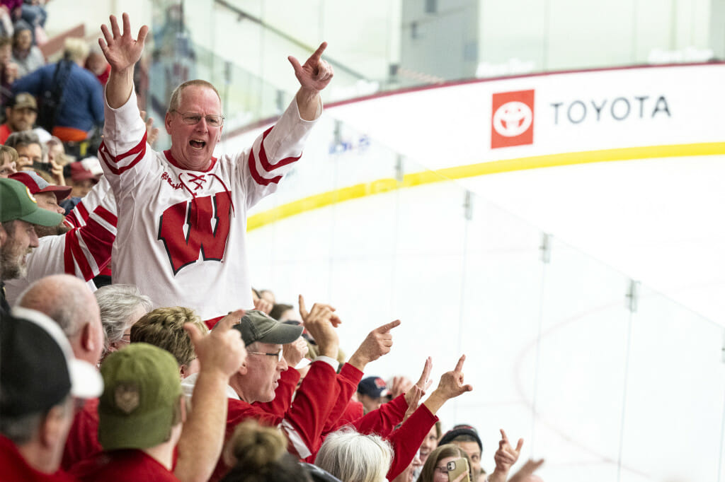
[{"label": "foreground hand with raised finger, on bare arm beside olive cap", "polygon": [[206,336],[192,323],[183,326],[199,358],[199,371],[218,371],[228,378],[239,370],[247,359],[247,350],[241,333],[232,326],[238,324],[242,316],[244,310],[229,313]]}]

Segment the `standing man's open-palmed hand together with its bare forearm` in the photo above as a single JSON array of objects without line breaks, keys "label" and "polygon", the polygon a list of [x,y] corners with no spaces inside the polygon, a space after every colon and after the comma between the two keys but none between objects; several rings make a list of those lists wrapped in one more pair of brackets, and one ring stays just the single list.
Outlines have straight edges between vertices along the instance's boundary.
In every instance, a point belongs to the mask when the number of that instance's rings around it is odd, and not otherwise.
[{"label": "standing man's open-palmed hand together with its bare forearm", "polygon": [[146,25],[138,30],[138,37],[131,36],[131,22],[127,13],[123,14],[123,33],[118,28],[115,15],[110,17],[111,30],[101,25],[104,38],[99,38],[107,62],[111,65],[111,73],[106,84],[106,101],[112,109],[123,106],[133,89],[133,67],[144,51],[144,41],[149,28]]}]

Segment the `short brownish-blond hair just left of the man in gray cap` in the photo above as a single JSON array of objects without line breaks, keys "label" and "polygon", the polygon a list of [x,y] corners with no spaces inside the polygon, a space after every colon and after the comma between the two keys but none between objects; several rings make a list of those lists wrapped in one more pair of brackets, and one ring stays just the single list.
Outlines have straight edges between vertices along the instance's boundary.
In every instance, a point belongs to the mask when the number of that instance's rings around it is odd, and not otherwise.
[{"label": "short brownish-blond hair just left of the man in gray cap", "polygon": [[194,358],[194,344],[188,337],[184,324],[195,324],[202,334],[209,329],[194,310],[175,306],[173,308],[156,308],[136,321],[131,326],[131,343],[146,342],[163,348],[174,355],[179,366],[188,365]]}]

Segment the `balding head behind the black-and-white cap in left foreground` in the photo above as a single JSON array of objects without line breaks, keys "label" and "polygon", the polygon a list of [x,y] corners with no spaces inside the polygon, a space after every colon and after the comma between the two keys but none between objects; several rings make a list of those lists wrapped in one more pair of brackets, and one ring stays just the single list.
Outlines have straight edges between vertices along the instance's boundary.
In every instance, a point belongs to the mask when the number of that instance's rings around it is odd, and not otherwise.
[{"label": "balding head behind the black-and-white cap in left foreground", "polygon": [[45,313],[59,324],[75,358],[99,362],[104,337],[101,314],[86,283],[67,274],[46,276],[30,284],[17,305]]}]

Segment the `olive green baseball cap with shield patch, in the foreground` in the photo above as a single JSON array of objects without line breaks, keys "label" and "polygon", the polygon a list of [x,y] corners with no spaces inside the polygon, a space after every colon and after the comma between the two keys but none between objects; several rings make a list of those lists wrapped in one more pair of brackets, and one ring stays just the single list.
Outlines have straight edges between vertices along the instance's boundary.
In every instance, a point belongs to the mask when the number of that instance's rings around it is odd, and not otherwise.
[{"label": "olive green baseball cap with shield patch, in the foreground", "polygon": [[131,343],[101,365],[98,440],[104,450],[147,449],[167,441],[178,413],[181,378],[175,358],[148,343]]}]

